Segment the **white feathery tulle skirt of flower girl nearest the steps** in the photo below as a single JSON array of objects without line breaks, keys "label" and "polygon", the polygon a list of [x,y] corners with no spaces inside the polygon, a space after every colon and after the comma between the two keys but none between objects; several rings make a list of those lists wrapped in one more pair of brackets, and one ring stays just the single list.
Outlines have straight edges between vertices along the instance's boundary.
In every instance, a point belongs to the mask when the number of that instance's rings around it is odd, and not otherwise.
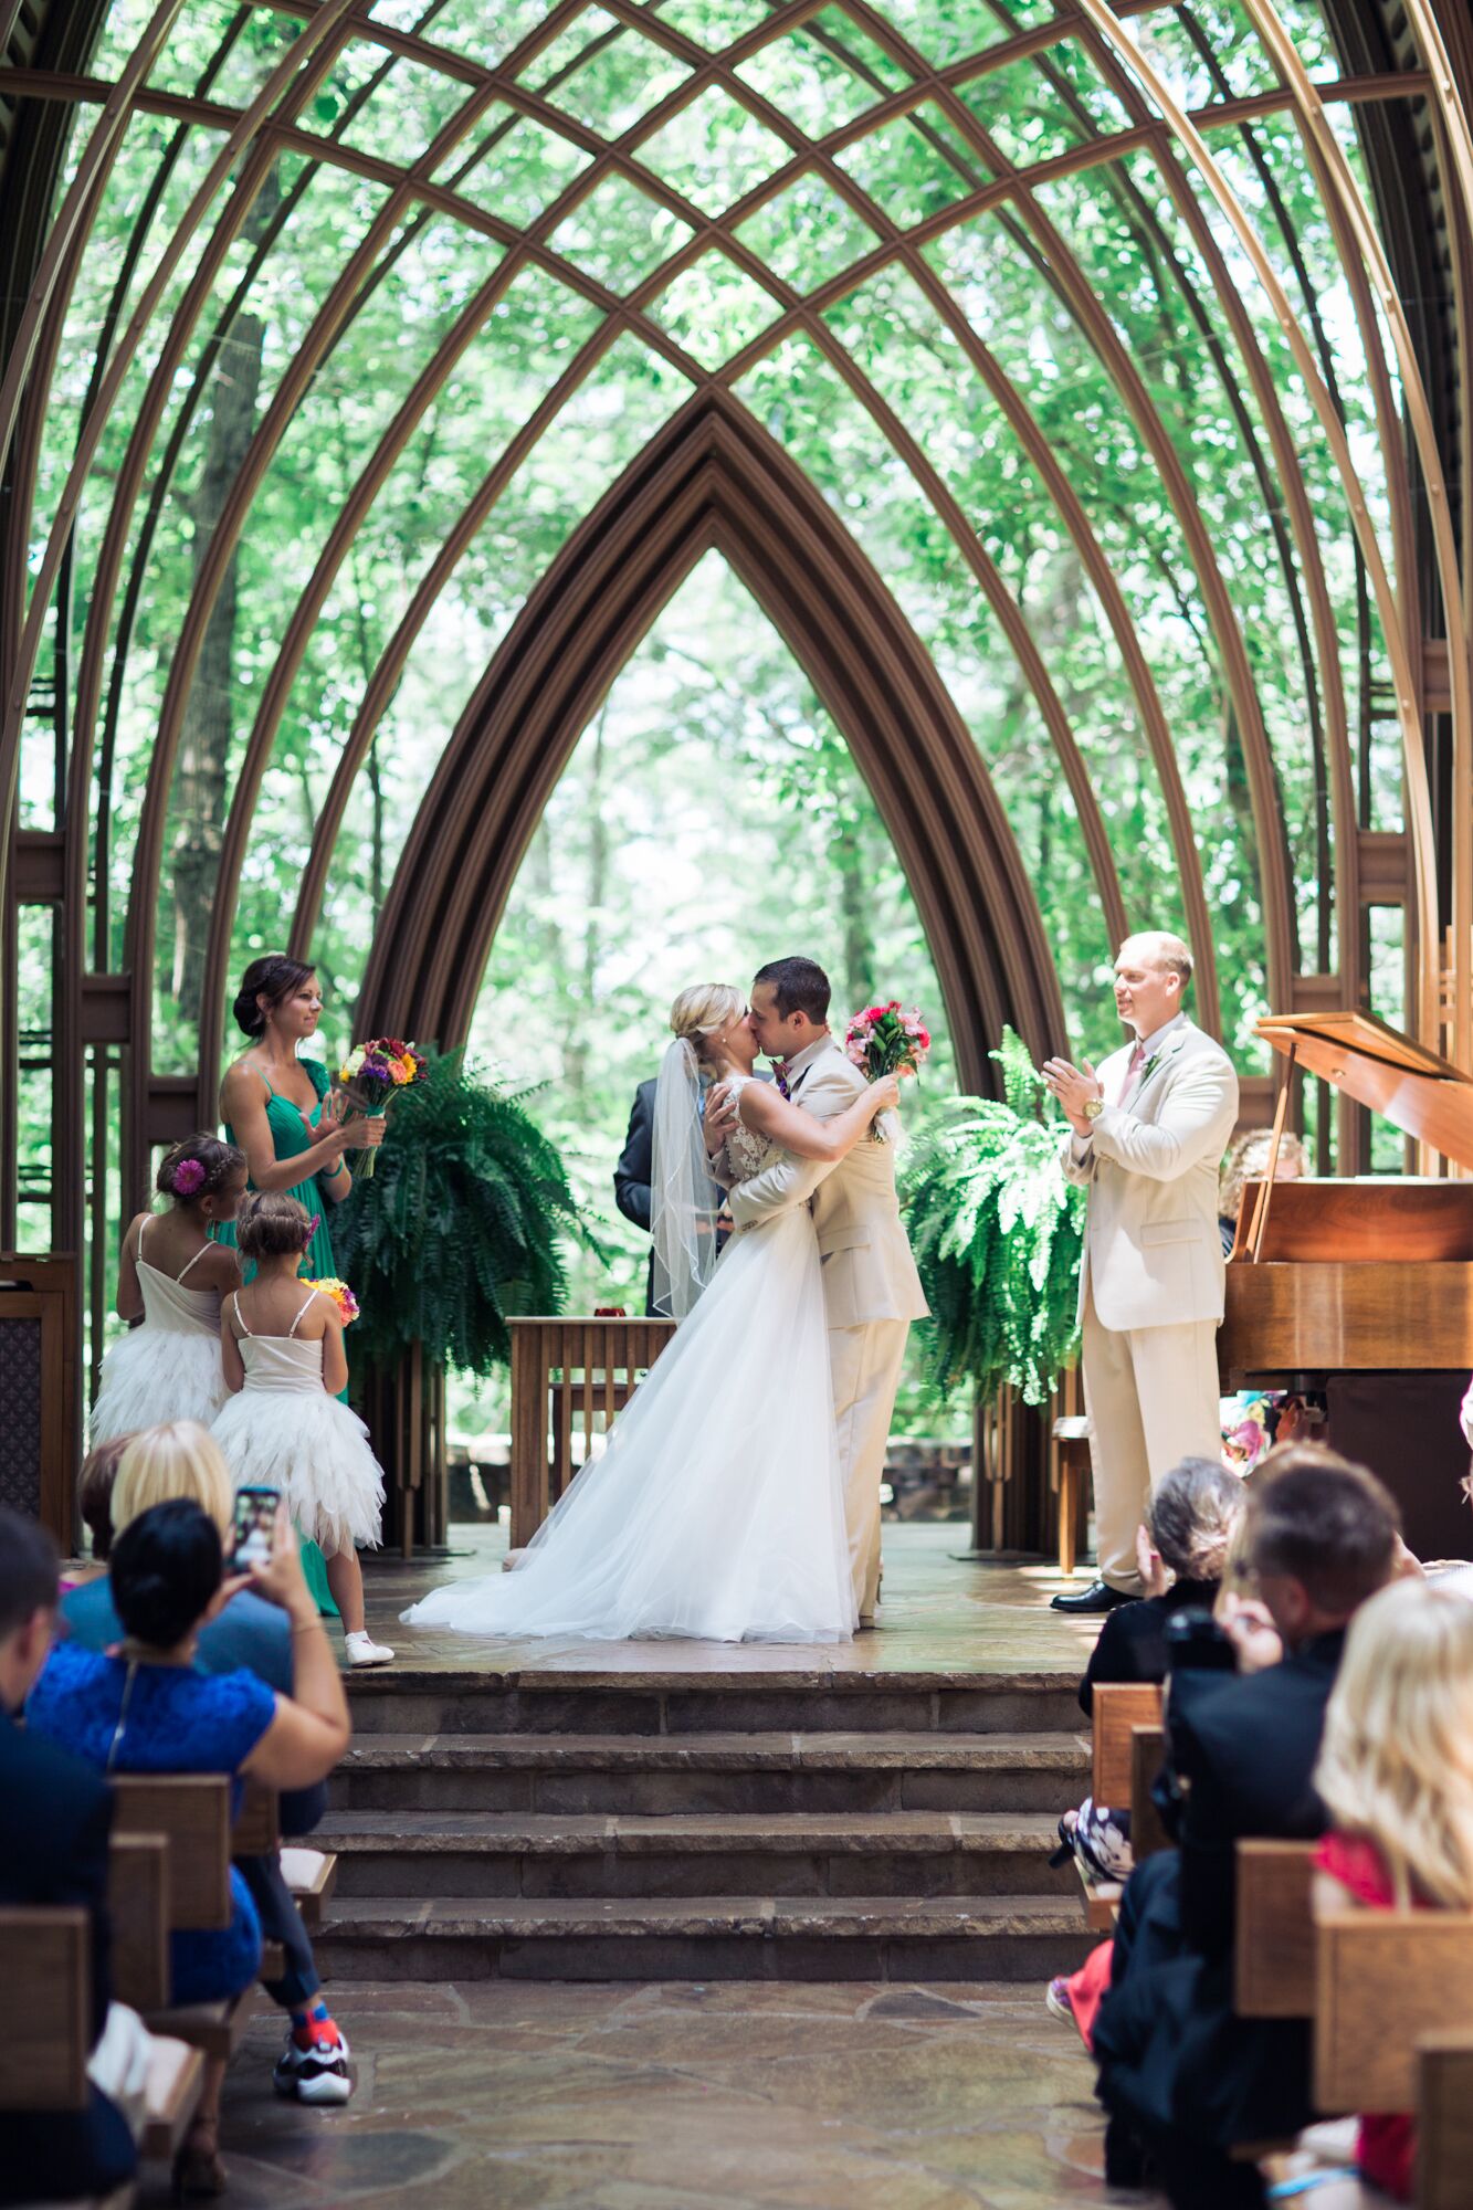
[{"label": "white feathery tulle skirt of flower girl nearest the steps", "polygon": [[237,1490],[281,1490],[303,1534],[327,1558],[365,1543],[378,1547],[383,1465],[356,1412],[316,1390],[250,1386],[215,1421]]}]

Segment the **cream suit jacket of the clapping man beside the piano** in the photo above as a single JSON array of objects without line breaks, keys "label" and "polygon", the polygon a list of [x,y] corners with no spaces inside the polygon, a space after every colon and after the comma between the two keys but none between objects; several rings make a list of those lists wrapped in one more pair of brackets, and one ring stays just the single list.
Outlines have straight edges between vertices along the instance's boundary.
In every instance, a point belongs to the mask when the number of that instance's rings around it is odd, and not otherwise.
[{"label": "cream suit jacket of the clapping man beside the piano", "polygon": [[[1170,1328],[1223,1317],[1216,1176],[1239,1118],[1228,1054],[1181,1017],[1121,1101],[1130,1045],[1099,1067],[1106,1107],[1090,1138],[1064,1143],[1064,1174],[1088,1187],[1079,1319],[1095,1293],[1104,1328]],[[1079,1156],[1084,1154],[1084,1156]]]}]

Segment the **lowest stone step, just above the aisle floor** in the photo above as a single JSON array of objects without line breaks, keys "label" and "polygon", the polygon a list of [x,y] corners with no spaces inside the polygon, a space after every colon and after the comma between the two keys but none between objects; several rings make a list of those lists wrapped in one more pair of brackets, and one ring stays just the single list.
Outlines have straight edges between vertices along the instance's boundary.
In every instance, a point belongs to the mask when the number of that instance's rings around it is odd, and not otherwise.
[{"label": "lowest stone step, just above the aisle floor", "polygon": [[[1048,1896],[345,1896],[316,1956],[336,1980],[1037,1980],[1095,1936]],[[1042,1993],[1040,1993],[1042,2000]]]}]

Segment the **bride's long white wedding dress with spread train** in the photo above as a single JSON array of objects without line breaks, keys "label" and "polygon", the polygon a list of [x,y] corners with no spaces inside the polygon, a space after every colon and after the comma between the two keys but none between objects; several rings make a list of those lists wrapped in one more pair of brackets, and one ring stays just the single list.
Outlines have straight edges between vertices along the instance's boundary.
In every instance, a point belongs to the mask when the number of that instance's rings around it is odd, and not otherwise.
[{"label": "bride's long white wedding dress with spread train", "polygon": [[[750,1180],[776,1156],[736,1127]],[[807,1204],[734,1235],[710,1288],[513,1571],[403,1613],[469,1635],[845,1642],[856,1629]]]}]

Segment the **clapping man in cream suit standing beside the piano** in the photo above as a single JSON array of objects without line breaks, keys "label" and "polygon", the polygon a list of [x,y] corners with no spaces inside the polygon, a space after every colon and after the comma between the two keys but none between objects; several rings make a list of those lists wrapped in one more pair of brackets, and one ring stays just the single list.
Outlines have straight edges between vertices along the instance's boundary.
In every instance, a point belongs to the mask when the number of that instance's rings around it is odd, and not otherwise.
[{"label": "clapping man in cream suit standing beside the piano", "polygon": [[1088,1189],[1079,1326],[1090,1417],[1099,1580],[1055,1611],[1110,1611],[1141,1593],[1135,1529],[1179,1459],[1223,1450],[1216,1330],[1223,1242],[1216,1169],[1239,1118],[1228,1054],[1181,1010],[1181,937],[1128,937],[1115,1010],[1135,1043],[1099,1072],[1051,1059],[1070,1136],[1064,1174]]}]

